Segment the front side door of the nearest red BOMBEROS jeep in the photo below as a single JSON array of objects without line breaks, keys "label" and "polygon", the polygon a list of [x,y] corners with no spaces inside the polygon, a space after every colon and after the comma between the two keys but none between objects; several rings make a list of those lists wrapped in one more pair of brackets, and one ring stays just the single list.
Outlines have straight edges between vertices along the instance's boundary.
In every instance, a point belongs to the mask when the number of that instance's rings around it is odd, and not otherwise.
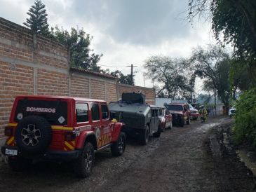
[{"label": "front side door of the nearest red BOMBEROS jeep", "polygon": [[105,146],[112,141],[112,123],[109,118],[109,109],[107,103],[100,102],[100,146]]}]

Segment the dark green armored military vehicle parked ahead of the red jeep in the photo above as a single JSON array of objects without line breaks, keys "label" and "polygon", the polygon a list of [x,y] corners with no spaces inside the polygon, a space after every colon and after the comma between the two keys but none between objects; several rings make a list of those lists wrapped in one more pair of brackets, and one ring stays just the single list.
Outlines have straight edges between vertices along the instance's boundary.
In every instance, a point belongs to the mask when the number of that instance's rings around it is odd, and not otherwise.
[{"label": "dark green armored military vehicle parked ahead of the red jeep", "polygon": [[109,104],[112,118],[125,123],[122,129],[130,136],[136,136],[140,144],[147,144],[149,135],[160,137],[159,107],[145,104],[145,95],[123,92],[122,100]]}]

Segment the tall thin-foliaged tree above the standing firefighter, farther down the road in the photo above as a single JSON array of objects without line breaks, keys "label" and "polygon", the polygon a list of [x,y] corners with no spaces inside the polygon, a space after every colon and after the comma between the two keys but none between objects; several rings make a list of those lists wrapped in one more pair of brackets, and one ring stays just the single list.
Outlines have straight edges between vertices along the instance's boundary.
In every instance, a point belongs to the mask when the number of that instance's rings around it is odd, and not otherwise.
[{"label": "tall thin-foliaged tree above the standing firefighter, farther down the road", "polygon": [[190,62],[194,74],[205,78],[204,88],[213,90],[215,107],[217,94],[225,106],[229,106],[229,55],[220,46],[194,49]]}]

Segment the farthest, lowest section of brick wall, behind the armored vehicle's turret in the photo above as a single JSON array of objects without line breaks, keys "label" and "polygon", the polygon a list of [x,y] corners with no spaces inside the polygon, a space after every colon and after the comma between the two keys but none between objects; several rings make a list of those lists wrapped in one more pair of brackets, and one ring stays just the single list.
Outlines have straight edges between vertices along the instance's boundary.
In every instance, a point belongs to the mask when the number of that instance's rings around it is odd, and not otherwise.
[{"label": "farthest, lowest section of brick wall, behind the armored vehicle's turret", "polygon": [[155,90],[153,88],[144,88],[139,86],[132,86],[132,85],[126,85],[118,83],[118,97],[119,100],[122,97],[123,92],[142,92],[144,95],[146,95],[146,102],[148,104],[155,104]]}]

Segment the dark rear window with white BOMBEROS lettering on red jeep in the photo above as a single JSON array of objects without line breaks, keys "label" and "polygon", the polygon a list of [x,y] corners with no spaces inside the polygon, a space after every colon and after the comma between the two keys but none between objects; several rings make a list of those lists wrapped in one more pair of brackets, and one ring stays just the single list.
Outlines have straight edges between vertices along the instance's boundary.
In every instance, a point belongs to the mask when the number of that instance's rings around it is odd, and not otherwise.
[{"label": "dark rear window with white BOMBEROS lettering on red jeep", "polygon": [[19,100],[14,120],[19,122],[26,116],[42,116],[50,125],[67,125],[67,102]]}]

